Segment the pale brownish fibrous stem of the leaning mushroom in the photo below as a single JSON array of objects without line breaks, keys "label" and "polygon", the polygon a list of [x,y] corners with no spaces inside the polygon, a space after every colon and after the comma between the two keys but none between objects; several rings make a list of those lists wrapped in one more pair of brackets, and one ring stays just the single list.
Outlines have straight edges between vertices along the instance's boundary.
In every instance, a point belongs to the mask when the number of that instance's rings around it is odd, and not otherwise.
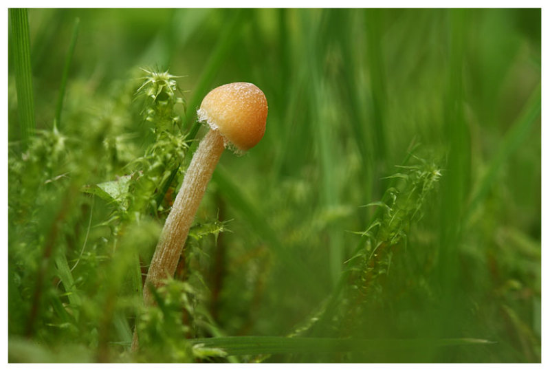
[{"label": "pale brownish fibrous stem of the leaning mushroom", "polygon": [[143,299],[146,306],[154,303],[149,289],[150,285],[158,288],[164,279],[174,276],[189,228],[223,149],[223,137],[219,131],[210,130],[201,140],[192,157],[184,182],[181,184],[170,214],[164,223],[149,266],[143,288]]}]

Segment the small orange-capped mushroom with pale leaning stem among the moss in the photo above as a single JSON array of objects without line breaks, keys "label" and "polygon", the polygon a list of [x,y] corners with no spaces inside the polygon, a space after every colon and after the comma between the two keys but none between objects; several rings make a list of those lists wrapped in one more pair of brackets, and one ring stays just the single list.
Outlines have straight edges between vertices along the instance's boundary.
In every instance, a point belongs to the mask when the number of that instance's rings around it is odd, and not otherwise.
[{"label": "small orange-capped mushroom with pale leaning stem among the moss", "polygon": [[164,223],[143,289],[145,305],[154,303],[150,286],[160,287],[164,279],[174,275],[192,220],[223,149],[234,147],[244,152],[262,139],[267,100],[263,91],[251,83],[221,85],[206,95],[197,116],[200,122],[208,123],[210,131],[193,155]]}]

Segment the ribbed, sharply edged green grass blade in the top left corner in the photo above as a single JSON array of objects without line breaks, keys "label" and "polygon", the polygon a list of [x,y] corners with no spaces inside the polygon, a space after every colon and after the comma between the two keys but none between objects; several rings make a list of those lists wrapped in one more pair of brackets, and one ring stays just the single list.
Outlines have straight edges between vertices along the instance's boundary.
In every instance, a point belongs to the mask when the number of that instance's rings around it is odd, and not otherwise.
[{"label": "ribbed, sharply edged green grass blade in the top left corner", "polygon": [[19,126],[23,149],[25,149],[29,139],[34,136],[35,129],[28,12],[26,9],[10,9],[10,19],[20,120]]}]

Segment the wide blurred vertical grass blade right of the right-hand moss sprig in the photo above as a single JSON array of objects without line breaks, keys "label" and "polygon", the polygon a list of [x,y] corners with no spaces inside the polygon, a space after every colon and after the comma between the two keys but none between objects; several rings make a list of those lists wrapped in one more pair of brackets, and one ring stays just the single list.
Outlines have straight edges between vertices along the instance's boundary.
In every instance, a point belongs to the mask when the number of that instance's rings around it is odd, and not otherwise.
[{"label": "wide blurred vertical grass blade right of the right-hand moss sprig", "polygon": [[444,134],[448,146],[445,178],[441,182],[441,229],[439,231],[438,290],[441,291],[441,318],[434,320],[435,334],[455,334],[459,329],[461,298],[459,261],[462,216],[471,174],[470,129],[464,117],[463,67],[467,10],[449,10],[448,90],[445,96]]}]

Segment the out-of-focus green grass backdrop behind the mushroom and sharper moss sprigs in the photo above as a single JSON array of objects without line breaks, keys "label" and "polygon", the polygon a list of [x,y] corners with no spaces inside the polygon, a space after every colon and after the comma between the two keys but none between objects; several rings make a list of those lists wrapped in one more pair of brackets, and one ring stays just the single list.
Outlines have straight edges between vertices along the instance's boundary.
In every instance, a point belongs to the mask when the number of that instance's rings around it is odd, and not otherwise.
[{"label": "out-of-focus green grass backdrop behind the mushroom and sharper moss sprigs", "polygon": [[[76,19],[57,125],[66,138],[58,153],[36,155],[36,168],[25,168],[21,149],[10,32],[10,360],[94,360],[102,340],[113,360],[124,353],[118,333],[102,332],[111,320],[101,311],[90,310],[87,322],[60,319],[52,298],[66,307],[67,292],[90,304],[109,292],[91,278],[109,267],[114,225],[102,222],[112,206],[79,191],[64,204],[62,182],[111,181],[142,155],[150,129],[132,102],[144,67],[182,76],[184,131],[218,85],[254,83],[269,103],[265,137],[244,156],[225,151],[197,215],[228,221],[230,231],[201,241],[203,256],[190,264],[203,277],[197,298],[224,335],[286,336],[311,317],[360,244],[352,232],[375,215],[364,206],[384,197],[385,177],[414,150],[441,179],[393,250],[375,305],[350,329],[362,338],[494,343],[302,361],[540,362],[540,10],[32,9],[38,133],[53,130]],[[88,139],[115,144],[86,152]],[[52,153],[63,160],[47,163]],[[54,237],[53,216],[62,221]],[[140,238],[148,254],[162,221]],[[52,256],[86,264],[73,271],[72,291],[50,264],[37,330],[20,338],[50,240]],[[126,319],[131,328],[133,316]]]}]

